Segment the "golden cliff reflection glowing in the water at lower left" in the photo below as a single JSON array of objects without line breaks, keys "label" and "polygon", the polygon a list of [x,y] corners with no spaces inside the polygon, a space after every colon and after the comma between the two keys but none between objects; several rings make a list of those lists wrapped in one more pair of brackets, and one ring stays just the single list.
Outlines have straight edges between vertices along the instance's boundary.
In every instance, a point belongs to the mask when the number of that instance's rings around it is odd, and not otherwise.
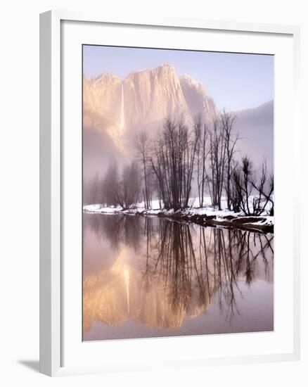
[{"label": "golden cliff reflection glowing in the water at lower left", "polygon": [[[144,274],[129,266],[130,251],[121,248],[112,267],[98,274],[88,275],[83,281],[83,329],[89,331],[94,322],[120,326],[127,320],[151,328],[176,330],[184,319],[197,317],[210,305],[209,291],[200,298],[197,279],[193,276],[193,289],[186,297],[179,296],[177,305],[172,301],[172,284],[153,279],[144,290]],[[173,296],[174,297],[174,296]]]}]

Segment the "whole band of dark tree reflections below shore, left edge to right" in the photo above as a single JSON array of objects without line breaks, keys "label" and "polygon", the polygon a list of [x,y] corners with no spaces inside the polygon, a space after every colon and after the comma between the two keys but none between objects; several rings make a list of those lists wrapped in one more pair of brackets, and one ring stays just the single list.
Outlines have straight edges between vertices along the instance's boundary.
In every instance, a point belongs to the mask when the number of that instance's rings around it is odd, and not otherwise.
[{"label": "whole band of dark tree reflections below shore, left edge to right", "polygon": [[248,286],[257,279],[272,281],[274,236],[269,234],[125,215],[86,215],[84,226],[115,250],[122,245],[134,250],[135,298],[155,302],[147,310],[158,308],[158,302],[143,295],[157,291],[160,308],[173,315],[196,316],[215,300],[231,322],[243,297],[240,281]]}]

